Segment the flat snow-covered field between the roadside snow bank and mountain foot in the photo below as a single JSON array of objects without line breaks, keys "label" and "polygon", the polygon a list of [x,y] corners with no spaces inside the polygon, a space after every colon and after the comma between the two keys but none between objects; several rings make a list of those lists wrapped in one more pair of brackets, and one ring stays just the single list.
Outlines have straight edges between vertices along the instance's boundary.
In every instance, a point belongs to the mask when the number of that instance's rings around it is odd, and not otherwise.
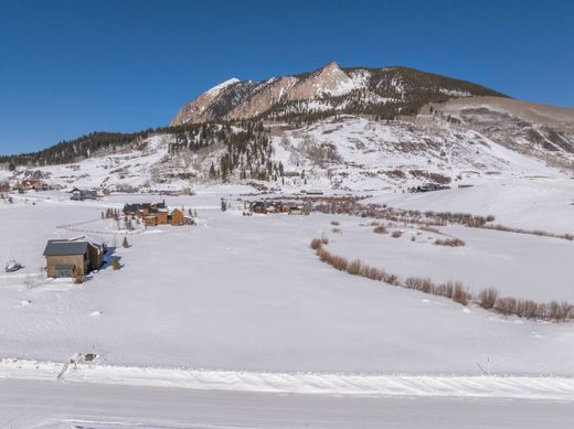
[{"label": "flat snow-covered field between the roadside snow bank and mountain foot", "polygon": [[[453,199],[474,189],[457,191]],[[95,351],[102,363],[116,365],[288,373],[574,375],[570,323],[503,318],[355,278],[309,249],[325,233],[337,253],[401,276],[459,279],[550,301],[574,300],[566,269],[572,242],[447,227],[467,246],[444,248],[413,243],[408,232],[401,238],[373,234],[360,226],[365,219],[349,216],[245,217],[235,210],[243,207],[237,193],[222,213],[222,190],[210,192],[167,197],[171,206],[196,208],[198,225],[129,236],[132,247],[117,249],[124,269],[104,269],[81,286],[41,278],[46,239],[78,235],[59,225],[152,196],[72,203],[67,194],[38,193],[0,205],[0,260],[25,265],[0,275],[0,354],[65,362]],[[410,204],[415,196],[376,199]],[[333,219],[341,234],[330,232]],[[113,244],[105,222],[94,225]]]}]

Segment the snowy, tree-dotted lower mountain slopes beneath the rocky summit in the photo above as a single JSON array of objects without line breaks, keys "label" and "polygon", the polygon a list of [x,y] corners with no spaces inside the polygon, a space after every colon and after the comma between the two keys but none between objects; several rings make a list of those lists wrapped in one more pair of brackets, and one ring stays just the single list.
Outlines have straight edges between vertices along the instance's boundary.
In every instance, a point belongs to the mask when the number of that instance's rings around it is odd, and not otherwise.
[{"label": "snowy, tree-dotted lower mountain slopes beneath the rocky summit", "polygon": [[[521,101],[511,101],[515,104],[523,107]],[[483,109],[499,111],[496,107],[483,100]],[[476,110],[474,105],[446,104],[442,108],[410,120],[376,121],[343,115],[299,127],[269,126],[246,137],[253,141],[245,142],[245,150],[241,142],[243,136],[249,135],[238,126],[212,126],[214,141],[208,140],[199,149],[193,144],[198,144],[200,136],[188,136],[190,140],[182,141],[179,135],[158,133],[123,151],[77,163],[18,168],[10,178],[21,180],[40,171],[45,181],[64,187],[110,190],[183,190],[224,181],[259,183],[285,191],[358,191],[404,190],[426,182],[456,186],[481,178],[572,174],[572,146],[557,151],[529,140],[528,131],[524,137],[514,128],[518,117],[491,121],[490,127],[475,126],[466,122],[468,111]],[[504,115],[511,110],[507,107]],[[460,124],[453,121],[455,115]],[[546,129],[551,125],[535,122],[530,127]],[[574,133],[568,132],[564,127],[561,138],[572,141]],[[230,143],[217,141],[217,136],[226,136],[224,141]]]}]

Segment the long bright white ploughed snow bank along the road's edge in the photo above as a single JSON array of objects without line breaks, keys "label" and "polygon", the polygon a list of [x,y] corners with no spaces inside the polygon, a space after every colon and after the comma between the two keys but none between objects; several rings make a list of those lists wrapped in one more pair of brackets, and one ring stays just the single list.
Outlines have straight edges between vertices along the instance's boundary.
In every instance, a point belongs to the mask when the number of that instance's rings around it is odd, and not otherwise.
[{"label": "long bright white ploughed snow bank along the road's edge", "polygon": [[1,378],[320,395],[574,400],[574,378],[266,373],[0,361]]}]

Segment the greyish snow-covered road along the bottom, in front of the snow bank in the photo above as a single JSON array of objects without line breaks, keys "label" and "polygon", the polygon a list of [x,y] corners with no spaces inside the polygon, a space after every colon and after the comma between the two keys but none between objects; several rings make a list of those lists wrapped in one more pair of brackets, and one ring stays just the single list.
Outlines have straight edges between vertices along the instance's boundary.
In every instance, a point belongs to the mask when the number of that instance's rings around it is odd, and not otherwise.
[{"label": "greyish snow-covered road along the bottom, in front of the snow bank", "polygon": [[554,428],[571,403],[278,395],[0,380],[0,428]]}]

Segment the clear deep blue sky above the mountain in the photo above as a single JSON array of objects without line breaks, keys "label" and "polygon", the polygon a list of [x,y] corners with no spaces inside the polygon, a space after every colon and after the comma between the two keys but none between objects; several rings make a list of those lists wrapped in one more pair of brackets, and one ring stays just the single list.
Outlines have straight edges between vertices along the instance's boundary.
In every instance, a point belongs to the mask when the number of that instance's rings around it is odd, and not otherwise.
[{"label": "clear deep blue sky above the mountain", "polygon": [[0,0],[0,153],[167,125],[230,77],[330,61],[574,107],[574,2]]}]

